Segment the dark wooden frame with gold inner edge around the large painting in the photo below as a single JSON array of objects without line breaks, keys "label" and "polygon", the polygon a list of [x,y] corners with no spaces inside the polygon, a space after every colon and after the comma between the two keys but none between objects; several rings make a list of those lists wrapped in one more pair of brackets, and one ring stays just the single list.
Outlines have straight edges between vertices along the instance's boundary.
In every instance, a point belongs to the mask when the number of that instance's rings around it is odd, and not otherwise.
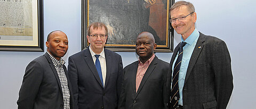
[{"label": "dark wooden frame with gold inner edge around the large painting", "polygon": [[[89,0],[82,0],[82,35],[81,35],[81,49],[85,49],[87,47],[89,47],[89,43],[87,41],[87,38],[86,38],[86,30],[87,30],[87,27],[89,26],[88,24],[88,21],[89,21],[89,14],[87,14],[87,12],[89,12],[89,8],[87,7],[88,4],[87,3],[90,3],[88,2]],[[171,5],[174,3],[174,0],[166,0],[168,1],[169,3],[167,3],[167,12],[169,12],[169,9],[171,7]],[[168,16],[168,19],[170,19],[170,15],[167,14]],[[103,22],[104,23],[104,22]],[[155,50],[155,52],[173,52],[173,37],[174,37],[174,33],[173,33],[173,28],[171,26],[171,23],[169,20],[167,20],[168,24],[168,30],[166,28],[166,31],[168,35],[166,35],[166,45],[165,46],[162,46],[162,45],[157,45],[157,48]],[[165,42],[166,42],[165,41]],[[108,44],[106,43],[105,47],[107,49],[110,49],[111,51],[115,51],[115,52],[135,52],[135,44],[134,45],[114,45],[114,44]]]}]

